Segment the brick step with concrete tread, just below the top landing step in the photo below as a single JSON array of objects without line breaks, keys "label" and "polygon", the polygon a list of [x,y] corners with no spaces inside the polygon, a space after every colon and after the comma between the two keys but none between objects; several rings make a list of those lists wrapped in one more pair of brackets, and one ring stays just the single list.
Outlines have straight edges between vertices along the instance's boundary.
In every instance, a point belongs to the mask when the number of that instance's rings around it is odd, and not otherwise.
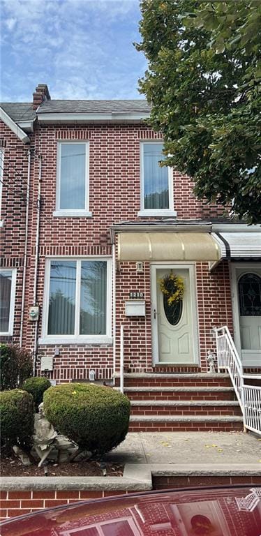
[{"label": "brick step with concrete tread, just below the top landing step", "polygon": [[[119,387],[115,387],[119,390]],[[130,400],[234,400],[233,387],[124,387]]]}]

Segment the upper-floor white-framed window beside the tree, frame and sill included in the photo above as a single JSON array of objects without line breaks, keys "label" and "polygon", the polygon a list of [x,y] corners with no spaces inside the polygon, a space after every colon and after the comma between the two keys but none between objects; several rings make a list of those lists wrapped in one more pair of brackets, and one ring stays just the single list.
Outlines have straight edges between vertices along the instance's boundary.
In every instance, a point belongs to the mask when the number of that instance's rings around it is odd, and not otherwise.
[{"label": "upper-floor white-framed window beside the tree, frame and sill included", "polygon": [[140,144],[140,212],[138,216],[176,216],[173,208],[172,168],[159,165],[164,160],[162,142]]}]

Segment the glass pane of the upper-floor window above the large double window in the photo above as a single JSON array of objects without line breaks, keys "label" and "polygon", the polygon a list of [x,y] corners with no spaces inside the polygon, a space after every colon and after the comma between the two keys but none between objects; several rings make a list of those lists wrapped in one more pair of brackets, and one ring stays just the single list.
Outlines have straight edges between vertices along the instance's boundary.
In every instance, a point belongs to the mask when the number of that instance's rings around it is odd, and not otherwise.
[{"label": "glass pane of the upper-floor window above the large double window", "polygon": [[86,144],[61,144],[60,209],[85,209]]}]

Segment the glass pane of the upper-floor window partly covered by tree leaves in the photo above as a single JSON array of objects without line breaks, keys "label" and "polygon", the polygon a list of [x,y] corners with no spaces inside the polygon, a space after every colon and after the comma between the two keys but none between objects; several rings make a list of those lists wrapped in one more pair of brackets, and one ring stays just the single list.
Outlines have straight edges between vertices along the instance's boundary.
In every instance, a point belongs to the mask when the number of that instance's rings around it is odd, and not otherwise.
[{"label": "glass pane of the upper-floor window partly covered by tree leaves", "polygon": [[168,209],[169,180],[168,168],[161,168],[158,162],[164,160],[163,144],[144,143],[144,209]]}]

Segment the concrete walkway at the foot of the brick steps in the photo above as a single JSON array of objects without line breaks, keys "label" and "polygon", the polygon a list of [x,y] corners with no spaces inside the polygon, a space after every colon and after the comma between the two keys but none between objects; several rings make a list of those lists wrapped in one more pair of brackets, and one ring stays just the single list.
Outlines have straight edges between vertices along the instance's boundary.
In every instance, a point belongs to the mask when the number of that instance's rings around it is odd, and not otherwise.
[{"label": "concrete walkway at the foot of the brick steps", "polygon": [[260,463],[261,438],[244,432],[130,432],[107,454],[115,463]]}]

